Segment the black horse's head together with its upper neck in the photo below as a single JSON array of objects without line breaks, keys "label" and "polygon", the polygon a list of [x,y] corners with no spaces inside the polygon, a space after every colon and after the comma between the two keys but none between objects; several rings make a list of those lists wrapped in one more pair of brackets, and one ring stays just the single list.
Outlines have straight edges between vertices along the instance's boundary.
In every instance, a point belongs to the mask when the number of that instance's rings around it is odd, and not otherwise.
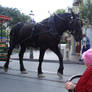
[{"label": "black horse's head together with its upper neck", "polygon": [[82,21],[78,14],[64,13],[57,14],[55,17],[56,29],[60,35],[62,35],[65,30],[71,33],[76,41],[82,39]]}]

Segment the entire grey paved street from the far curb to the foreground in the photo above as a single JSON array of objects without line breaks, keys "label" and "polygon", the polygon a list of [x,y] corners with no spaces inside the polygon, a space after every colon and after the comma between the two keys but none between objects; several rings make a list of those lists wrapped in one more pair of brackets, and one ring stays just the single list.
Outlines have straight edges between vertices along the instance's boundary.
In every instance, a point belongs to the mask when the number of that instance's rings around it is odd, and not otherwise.
[{"label": "entire grey paved street from the far curb to the foreground", "polygon": [[9,71],[5,73],[2,69],[5,62],[0,62],[0,91],[1,92],[67,92],[64,82],[72,75],[82,74],[85,66],[81,64],[64,64],[63,78],[56,74],[58,63],[43,63],[45,77],[39,79],[37,76],[38,62],[24,61],[28,74],[21,74],[19,61],[11,60]]}]

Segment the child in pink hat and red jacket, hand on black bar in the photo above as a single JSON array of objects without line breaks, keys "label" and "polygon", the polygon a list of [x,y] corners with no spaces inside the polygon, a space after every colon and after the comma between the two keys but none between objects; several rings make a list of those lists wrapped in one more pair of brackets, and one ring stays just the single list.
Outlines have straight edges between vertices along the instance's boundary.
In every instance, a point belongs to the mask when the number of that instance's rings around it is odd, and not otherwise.
[{"label": "child in pink hat and red jacket, hand on black bar", "polygon": [[83,61],[87,66],[86,71],[79,79],[77,84],[68,81],[65,83],[67,90],[75,90],[75,92],[92,92],[92,49],[85,51],[82,55]]}]

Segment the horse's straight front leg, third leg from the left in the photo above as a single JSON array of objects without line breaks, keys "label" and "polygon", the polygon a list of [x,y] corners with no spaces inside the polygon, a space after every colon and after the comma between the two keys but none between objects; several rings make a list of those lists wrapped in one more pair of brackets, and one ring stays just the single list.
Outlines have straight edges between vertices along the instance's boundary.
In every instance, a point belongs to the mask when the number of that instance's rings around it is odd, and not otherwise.
[{"label": "horse's straight front leg, third leg from the left", "polygon": [[42,62],[46,49],[40,49],[39,65],[38,65],[38,77],[44,77],[42,72]]}]

